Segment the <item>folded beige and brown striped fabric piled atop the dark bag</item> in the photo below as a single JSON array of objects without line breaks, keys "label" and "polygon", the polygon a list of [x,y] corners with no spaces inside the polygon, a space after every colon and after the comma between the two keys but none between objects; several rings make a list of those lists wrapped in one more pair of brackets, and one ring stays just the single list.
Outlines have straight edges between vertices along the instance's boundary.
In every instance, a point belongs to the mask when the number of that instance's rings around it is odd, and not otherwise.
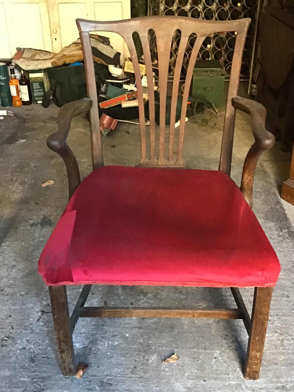
[{"label": "folded beige and brown striped fabric piled atop the dark bag", "polygon": [[[120,53],[109,43],[109,38],[90,34],[93,59],[98,64],[120,64]],[[44,50],[25,48],[22,56],[14,63],[26,71],[58,67],[63,64],[72,64],[83,61],[83,52],[80,38],[64,47],[59,53]]]}]

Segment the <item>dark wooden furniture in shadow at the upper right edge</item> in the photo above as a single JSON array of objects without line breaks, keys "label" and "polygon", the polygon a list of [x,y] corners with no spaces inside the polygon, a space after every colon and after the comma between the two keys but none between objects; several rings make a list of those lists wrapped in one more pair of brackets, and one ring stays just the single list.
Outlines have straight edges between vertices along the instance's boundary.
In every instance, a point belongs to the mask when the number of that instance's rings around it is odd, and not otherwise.
[{"label": "dark wooden furniture in shadow at the upper right edge", "polygon": [[267,129],[288,152],[294,141],[294,15],[278,7],[261,11],[260,49],[256,100],[267,109]]}]

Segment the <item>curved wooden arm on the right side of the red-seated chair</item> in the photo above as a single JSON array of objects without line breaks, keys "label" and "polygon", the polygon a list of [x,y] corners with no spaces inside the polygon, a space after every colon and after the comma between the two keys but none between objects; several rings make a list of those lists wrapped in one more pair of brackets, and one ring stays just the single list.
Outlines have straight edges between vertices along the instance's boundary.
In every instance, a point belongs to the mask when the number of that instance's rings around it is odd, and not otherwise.
[{"label": "curved wooden arm on the right side of the red-seated chair", "polygon": [[232,105],[245,113],[250,114],[254,144],[248,151],[243,165],[240,189],[247,203],[252,207],[252,189],[256,164],[263,152],[272,148],[275,143],[273,134],[265,129],[267,111],[261,103],[247,98],[232,98]]}]

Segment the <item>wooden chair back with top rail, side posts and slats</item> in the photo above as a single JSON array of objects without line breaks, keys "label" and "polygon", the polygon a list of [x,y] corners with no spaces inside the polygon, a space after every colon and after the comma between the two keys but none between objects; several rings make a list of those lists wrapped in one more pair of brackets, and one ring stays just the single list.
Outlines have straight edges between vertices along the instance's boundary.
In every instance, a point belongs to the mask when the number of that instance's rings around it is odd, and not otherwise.
[{"label": "wooden chair back with top rail, side posts and slats", "polygon": [[[176,19],[176,23],[175,23]],[[85,62],[87,93],[88,98],[93,101],[90,110],[90,127],[91,127],[91,145],[92,145],[92,161],[93,169],[103,166],[103,154],[101,146],[101,137],[99,129],[98,101],[96,92],[96,83],[94,76],[94,66],[92,60],[91,42],[89,37],[90,31],[109,31],[118,33],[125,40],[132,58],[134,74],[136,78],[136,87],[138,92],[138,109],[140,119],[140,136],[141,136],[141,159],[140,165],[157,166],[157,167],[180,167],[183,162],[183,139],[185,131],[185,116],[187,110],[187,102],[189,97],[189,89],[192,80],[194,64],[203,40],[210,34],[220,33],[221,31],[235,31],[236,44],[232,61],[232,71],[229,82],[229,93],[227,98],[227,107],[225,112],[225,121],[223,127],[223,139],[221,144],[221,156],[219,170],[230,174],[230,166],[232,159],[232,144],[234,138],[235,111],[232,106],[232,98],[237,96],[239,75],[241,69],[242,53],[249,27],[250,19],[215,22],[207,20],[193,20],[190,18],[179,16],[154,16],[149,18],[136,18],[130,20],[122,20],[120,22],[96,22],[83,19],[77,19],[76,23],[80,31],[80,38],[83,47],[83,55]],[[172,27],[171,27],[172,26]],[[222,29],[220,31],[220,28]],[[158,132],[158,141],[156,140],[155,127],[155,98],[153,89],[153,69],[151,60],[151,50],[149,45],[149,33],[154,32],[156,36],[157,54],[158,54],[158,84],[160,89],[160,126]],[[172,100],[170,112],[169,138],[166,146],[165,140],[165,116],[166,116],[166,97],[167,97],[167,80],[170,49],[172,44],[172,36],[178,30],[181,32],[180,45],[177,54],[176,66],[174,69],[174,78],[172,85]],[[143,56],[146,66],[146,76],[148,85],[149,98],[149,118],[150,129],[149,141],[147,143],[147,127],[145,126],[145,111],[141,84],[141,75],[136,47],[133,40],[133,33],[136,32],[140,36]],[[176,105],[177,92],[180,83],[181,67],[185,54],[185,48],[191,34],[196,34],[197,38],[192,48],[187,74],[185,78],[185,87],[183,90],[182,108],[180,117],[180,127],[178,132],[178,140],[175,140],[175,122],[176,122]],[[174,151],[174,143],[176,142],[176,151]],[[156,147],[158,146],[158,147]],[[176,156],[176,158],[175,158]]]}]

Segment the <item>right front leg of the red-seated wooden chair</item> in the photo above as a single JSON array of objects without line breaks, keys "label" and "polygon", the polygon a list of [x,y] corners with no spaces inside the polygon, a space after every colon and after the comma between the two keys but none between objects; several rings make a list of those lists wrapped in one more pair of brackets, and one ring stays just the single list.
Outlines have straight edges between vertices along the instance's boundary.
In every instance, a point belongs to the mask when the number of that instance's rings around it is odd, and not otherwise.
[{"label": "right front leg of the red-seated wooden chair", "polygon": [[247,380],[259,377],[271,298],[272,287],[255,287],[244,374]]}]

